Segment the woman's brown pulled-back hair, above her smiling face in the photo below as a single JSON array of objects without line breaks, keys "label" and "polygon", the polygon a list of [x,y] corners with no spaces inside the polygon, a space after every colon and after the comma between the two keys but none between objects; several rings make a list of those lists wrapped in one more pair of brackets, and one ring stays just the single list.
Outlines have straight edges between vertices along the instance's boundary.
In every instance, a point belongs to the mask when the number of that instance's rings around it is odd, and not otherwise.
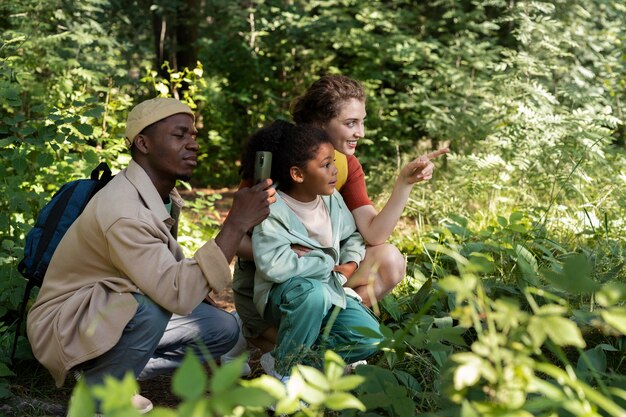
[{"label": "woman's brown pulled-back hair, above her smiling face", "polygon": [[352,98],[365,103],[361,83],[345,75],[325,75],[291,103],[291,116],[297,124],[323,125],[339,116],[341,107]]}]

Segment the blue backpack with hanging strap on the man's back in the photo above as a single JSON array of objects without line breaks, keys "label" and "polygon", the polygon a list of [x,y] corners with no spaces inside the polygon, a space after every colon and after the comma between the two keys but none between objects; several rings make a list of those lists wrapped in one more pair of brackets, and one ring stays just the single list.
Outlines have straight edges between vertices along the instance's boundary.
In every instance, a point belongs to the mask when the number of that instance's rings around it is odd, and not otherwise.
[{"label": "blue backpack with hanging strap on the man's back", "polygon": [[26,235],[24,258],[17,269],[27,279],[17,320],[11,357],[15,355],[17,337],[26,312],[26,304],[34,287],[40,287],[48,264],[59,242],[74,220],[83,212],[91,198],[113,178],[106,162],[101,162],[91,177],[70,181],[52,196],[37,215],[35,226]]}]

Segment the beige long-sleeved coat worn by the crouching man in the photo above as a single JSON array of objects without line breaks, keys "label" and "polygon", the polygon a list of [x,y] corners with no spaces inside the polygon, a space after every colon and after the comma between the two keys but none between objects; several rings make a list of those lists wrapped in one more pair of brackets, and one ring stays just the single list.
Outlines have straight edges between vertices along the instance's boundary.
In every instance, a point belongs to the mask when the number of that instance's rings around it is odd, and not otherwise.
[{"label": "beige long-sleeved coat worn by the crouching man", "polygon": [[134,316],[132,293],[189,314],[231,280],[213,240],[186,259],[176,242],[183,201],[167,212],[146,172],[131,161],[89,202],[61,240],[27,318],[35,357],[57,386],[76,365],[118,342]]}]

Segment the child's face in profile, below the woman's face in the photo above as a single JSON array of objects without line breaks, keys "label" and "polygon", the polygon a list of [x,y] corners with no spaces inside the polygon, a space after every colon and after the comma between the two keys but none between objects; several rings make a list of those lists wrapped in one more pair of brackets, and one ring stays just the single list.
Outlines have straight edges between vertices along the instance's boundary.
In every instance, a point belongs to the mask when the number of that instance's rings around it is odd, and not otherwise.
[{"label": "child's face in profile, below the woman's face", "polygon": [[[335,166],[335,148],[330,143],[323,143],[317,149],[315,158],[310,160],[302,176],[296,180],[295,187],[300,201],[312,201],[318,195],[331,195],[337,182]],[[302,180],[299,182],[299,180]]]}]

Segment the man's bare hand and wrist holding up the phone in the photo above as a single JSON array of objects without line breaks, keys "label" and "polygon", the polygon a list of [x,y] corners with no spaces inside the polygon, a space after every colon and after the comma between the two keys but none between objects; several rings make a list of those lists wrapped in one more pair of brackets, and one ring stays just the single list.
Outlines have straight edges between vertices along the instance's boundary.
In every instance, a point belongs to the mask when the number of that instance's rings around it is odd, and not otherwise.
[{"label": "man's bare hand and wrist holding up the phone", "polygon": [[230,262],[239,248],[241,239],[270,214],[270,204],[276,201],[276,190],[272,180],[266,179],[254,187],[244,187],[233,195],[233,205],[228,212],[222,230],[215,237],[215,243]]}]

